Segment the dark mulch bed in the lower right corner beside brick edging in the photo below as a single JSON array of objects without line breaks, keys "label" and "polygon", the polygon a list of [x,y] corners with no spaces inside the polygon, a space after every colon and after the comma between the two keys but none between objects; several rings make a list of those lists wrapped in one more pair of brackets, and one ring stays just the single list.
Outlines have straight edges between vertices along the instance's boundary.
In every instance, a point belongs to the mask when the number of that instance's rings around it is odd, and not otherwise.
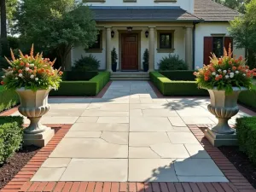
[{"label": "dark mulch bed in the lower right corner beside brick edging", "polygon": [[242,153],[238,147],[220,147],[218,149],[256,189],[256,165],[253,165],[247,155]]}]

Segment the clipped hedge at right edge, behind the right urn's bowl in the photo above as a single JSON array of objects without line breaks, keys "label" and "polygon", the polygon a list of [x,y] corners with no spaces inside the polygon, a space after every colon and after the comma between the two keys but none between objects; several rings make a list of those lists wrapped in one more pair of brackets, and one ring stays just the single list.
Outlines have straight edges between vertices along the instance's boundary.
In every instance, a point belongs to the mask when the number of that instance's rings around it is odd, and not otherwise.
[{"label": "clipped hedge at right edge, behind the right urn's bowl", "polygon": [[242,91],[238,102],[256,112],[256,86],[253,87],[253,90]]}]

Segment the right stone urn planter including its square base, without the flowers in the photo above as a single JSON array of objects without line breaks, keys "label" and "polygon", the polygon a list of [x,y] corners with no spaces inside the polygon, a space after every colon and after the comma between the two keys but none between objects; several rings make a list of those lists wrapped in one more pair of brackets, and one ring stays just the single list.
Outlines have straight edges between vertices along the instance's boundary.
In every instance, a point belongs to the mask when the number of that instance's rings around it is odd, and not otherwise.
[{"label": "right stone urn planter including its square base, without the flowers", "polygon": [[237,100],[243,90],[247,89],[233,87],[230,94],[226,94],[225,90],[217,90],[217,88],[208,90],[211,104],[207,108],[218,119],[218,124],[207,130],[206,137],[214,146],[236,144],[235,129],[230,127],[228,121],[239,112]]}]

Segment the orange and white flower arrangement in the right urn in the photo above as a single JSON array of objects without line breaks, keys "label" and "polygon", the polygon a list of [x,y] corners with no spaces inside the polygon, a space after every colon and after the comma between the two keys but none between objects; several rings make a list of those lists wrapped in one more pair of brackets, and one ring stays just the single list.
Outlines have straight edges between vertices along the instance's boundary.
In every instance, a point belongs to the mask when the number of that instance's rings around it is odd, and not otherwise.
[{"label": "orange and white flower arrangement in the right urn", "polygon": [[225,90],[226,93],[233,91],[233,87],[245,87],[251,89],[252,79],[256,76],[256,68],[250,70],[246,61],[240,56],[232,57],[231,46],[227,52],[224,49],[224,56],[218,58],[212,54],[211,63],[204,65],[195,72],[196,82],[199,88],[212,90]]}]

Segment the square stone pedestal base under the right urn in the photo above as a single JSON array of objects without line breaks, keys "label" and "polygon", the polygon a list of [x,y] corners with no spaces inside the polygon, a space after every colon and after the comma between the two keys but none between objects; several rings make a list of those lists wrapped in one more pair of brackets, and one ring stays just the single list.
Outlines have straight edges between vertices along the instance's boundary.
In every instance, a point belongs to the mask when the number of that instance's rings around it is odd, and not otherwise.
[{"label": "square stone pedestal base under the right urn", "polygon": [[208,128],[207,131],[205,131],[205,136],[214,147],[237,145],[236,132],[233,134],[218,134]]}]

